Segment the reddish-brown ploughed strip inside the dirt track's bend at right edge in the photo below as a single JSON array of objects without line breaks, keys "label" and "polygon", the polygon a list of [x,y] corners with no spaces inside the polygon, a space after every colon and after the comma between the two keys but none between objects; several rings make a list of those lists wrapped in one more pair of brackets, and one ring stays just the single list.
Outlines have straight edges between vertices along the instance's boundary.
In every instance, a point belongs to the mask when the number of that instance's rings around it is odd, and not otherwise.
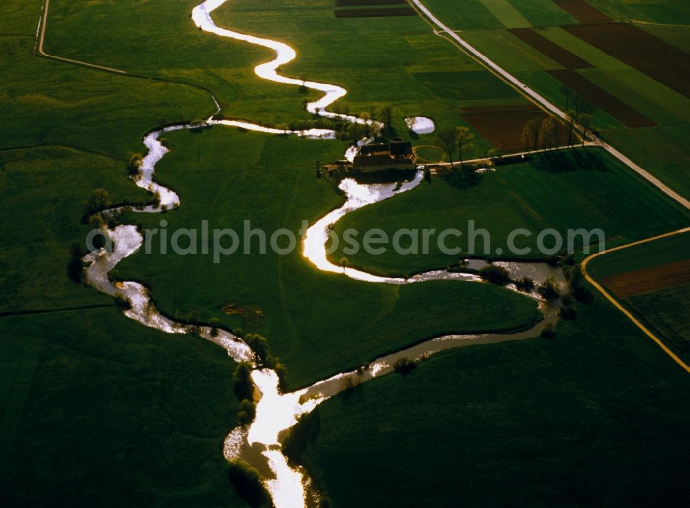
[{"label": "reddish-brown ploughed strip inside the dirt track's bend at right edge", "polygon": [[690,260],[660,264],[649,268],[604,277],[602,282],[621,299],[690,282]]}]

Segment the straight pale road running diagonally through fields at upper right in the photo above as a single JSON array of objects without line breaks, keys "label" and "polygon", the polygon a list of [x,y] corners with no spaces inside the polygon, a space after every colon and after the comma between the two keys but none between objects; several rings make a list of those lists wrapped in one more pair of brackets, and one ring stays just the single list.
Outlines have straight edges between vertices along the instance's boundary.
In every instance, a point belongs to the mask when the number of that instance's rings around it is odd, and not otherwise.
[{"label": "straight pale road running diagonally through fields at upper right", "polygon": [[[462,39],[457,33],[453,32],[450,28],[448,28],[444,23],[442,23],[437,17],[434,16],[434,14],[428,10],[422,1],[420,0],[411,0],[415,6],[428,18],[431,23],[433,23],[437,28],[440,28],[442,32],[446,33],[455,41],[462,49],[464,49],[466,52],[469,53],[469,55],[475,57],[480,63],[484,64],[486,68],[489,68],[492,72],[494,72],[496,75],[502,77],[505,81],[508,81],[509,84],[513,85],[515,88],[520,90],[520,92],[524,93],[526,97],[531,99],[532,101],[535,101],[536,104],[541,106],[542,108],[546,109],[547,111],[553,113],[554,115],[557,115],[561,119],[568,120],[569,117],[564,113],[562,110],[551,104],[551,102],[540,95],[538,92],[535,90],[532,90],[529,88],[526,84],[522,83],[519,79],[511,75],[509,72],[504,70],[502,67],[498,66],[495,64],[489,57],[484,55],[482,52],[476,50],[473,46],[471,46],[467,41]],[[580,128],[582,130],[582,128]],[[598,144],[598,146],[601,146],[604,148],[604,150],[607,150],[613,157],[616,159],[620,160],[623,164],[631,168],[635,173],[638,173],[640,176],[642,176],[644,179],[646,179],[648,182],[653,184],[654,186],[658,187],[664,194],[668,195],[671,197],[671,199],[674,199],[676,202],[682,204],[685,208],[690,209],[690,201],[688,199],[685,199],[676,191],[672,190],[664,184],[663,182],[660,181],[657,177],[651,175],[647,170],[644,170],[638,164],[635,164],[631,159],[620,153],[618,150],[613,148],[613,146],[609,145],[607,142],[605,142],[603,139],[600,139],[596,135],[593,135],[593,133],[583,133],[584,136],[592,137],[594,141]]]}]

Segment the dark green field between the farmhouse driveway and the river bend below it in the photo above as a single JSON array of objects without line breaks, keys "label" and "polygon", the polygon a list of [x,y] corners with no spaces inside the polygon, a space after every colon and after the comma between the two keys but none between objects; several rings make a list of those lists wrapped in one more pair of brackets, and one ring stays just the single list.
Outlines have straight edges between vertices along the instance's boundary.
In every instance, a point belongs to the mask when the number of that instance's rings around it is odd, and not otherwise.
[{"label": "dark green field between the farmhouse driveway and the river bend below it", "polygon": [[[474,187],[456,188],[443,179],[433,179],[431,184],[422,182],[399,197],[346,215],[335,224],[334,231],[343,238],[348,228],[354,228],[361,239],[364,231],[371,228],[382,228],[388,237],[400,228],[435,228],[437,234],[446,228],[457,228],[464,234],[459,240],[449,237],[446,246],[458,246],[467,253],[468,221],[473,220],[475,228],[486,228],[491,235],[489,252],[484,252],[484,242],[479,237],[475,256],[516,257],[509,253],[506,240],[511,231],[526,228],[531,237],[520,237],[516,246],[531,248],[532,252],[525,257],[544,259],[546,255],[538,252],[536,244],[536,237],[544,228],[555,228],[564,239],[568,229],[600,228],[610,247],[687,224],[690,213],[650,189],[606,153],[577,150],[562,154],[565,155],[560,157],[564,158],[555,162],[537,157],[529,164],[499,166]],[[551,247],[552,242],[549,240],[546,245]],[[366,253],[364,249],[346,255],[346,247],[345,242],[339,245],[331,255],[334,262],[345,255],[351,266],[380,273],[414,273],[457,264],[459,260],[442,253],[435,239],[428,254],[422,253],[420,245],[417,255],[397,254],[391,248],[382,255]],[[499,248],[502,254],[497,253]]]}]

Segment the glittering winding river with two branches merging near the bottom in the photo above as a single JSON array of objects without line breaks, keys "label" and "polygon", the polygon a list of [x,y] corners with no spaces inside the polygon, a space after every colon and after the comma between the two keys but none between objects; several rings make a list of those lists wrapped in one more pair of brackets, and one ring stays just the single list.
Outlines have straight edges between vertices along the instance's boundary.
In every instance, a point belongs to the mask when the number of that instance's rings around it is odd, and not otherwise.
[{"label": "glittering winding river with two branches merging near the bottom", "polygon": [[[281,76],[277,73],[277,68],[286,64],[296,57],[295,50],[284,43],[261,39],[252,35],[245,35],[220,28],[215,24],[211,13],[226,3],[227,0],[207,0],[195,7],[192,12],[194,23],[206,32],[264,46],[275,51],[276,57],[272,61],[259,64],[255,67],[255,72],[259,77],[283,84],[296,86],[306,86],[324,93],[324,96],[307,105],[307,110],[311,113],[329,118],[346,119],[361,124],[380,125],[373,120],[364,120],[347,115],[339,115],[326,111],[326,108],[333,104],[337,99],[344,97],[347,91],[337,85],[319,83],[317,81],[302,81],[289,77]],[[217,112],[216,112],[217,113]],[[212,117],[206,121],[207,124],[236,126],[255,130],[267,134],[289,134],[311,139],[333,139],[335,133],[328,129],[310,129],[303,131],[281,130],[267,128],[252,124],[246,121],[234,120],[214,120]],[[173,190],[157,184],[154,180],[155,166],[168,152],[167,148],[161,144],[159,137],[163,133],[172,130],[184,130],[196,128],[181,124],[154,130],[144,138],[144,144],[148,148],[148,154],[144,157],[139,167],[138,175],[133,181],[137,186],[146,188],[159,196],[160,202],[155,206],[137,208],[135,211],[141,213],[157,213],[164,209],[177,208],[179,197]],[[427,125],[431,129],[431,126]],[[359,145],[363,142],[360,141]],[[352,157],[356,153],[357,147],[348,149],[346,157]],[[453,279],[465,282],[482,283],[476,275],[469,273],[449,273],[448,271],[430,271],[409,277],[407,279],[379,277],[354,268],[346,268],[331,263],[326,257],[326,242],[328,240],[328,228],[335,222],[358,208],[380,202],[383,199],[390,199],[401,193],[411,191],[420,184],[422,173],[417,173],[414,179],[404,183],[400,188],[395,184],[357,184],[353,179],[345,179],[340,187],[346,193],[346,202],[341,208],[328,213],[319,219],[311,228],[308,229],[303,243],[303,253],[309,262],[322,271],[342,273],[347,277],[365,282],[382,284],[411,284],[424,282],[426,280]],[[115,208],[106,213],[117,213]],[[89,284],[99,291],[109,295],[121,295],[129,302],[131,308],[125,311],[127,317],[149,326],[151,328],[164,331],[165,333],[197,333],[201,338],[215,342],[226,349],[228,355],[237,362],[250,362],[254,365],[252,379],[259,392],[255,420],[244,427],[237,427],[226,438],[224,445],[224,456],[228,460],[242,458],[256,467],[267,478],[265,487],[277,508],[302,508],[313,507],[318,503],[317,490],[309,478],[307,472],[302,467],[292,467],[288,465],[286,457],[283,455],[279,435],[282,431],[293,427],[297,418],[310,411],[313,411],[318,404],[331,396],[346,389],[347,378],[365,382],[377,378],[381,375],[390,373],[393,370],[393,363],[398,358],[408,358],[410,360],[424,360],[433,353],[451,349],[467,344],[487,344],[492,342],[502,342],[505,340],[518,340],[532,338],[540,333],[546,324],[558,320],[558,315],[552,307],[539,299],[536,293],[530,296],[539,301],[540,309],[544,319],[533,326],[533,328],[520,333],[486,333],[475,335],[446,335],[443,337],[432,338],[411,346],[402,351],[385,355],[370,364],[363,365],[354,371],[339,373],[338,375],[319,381],[311,387],[291,393],[280,393],[278,387],[278,377],[275,371],[270,369],[257,369],[254,362],[254,355],[249,346],[235,335],[226,331],[212,333],[208,326],[190,327],[185,324],[174,322],[161,315],[150,298],[150,292],[145,286],[137,282],[118,282],[113,283],[108,279],[108,272],[115,268],[117,263],[125,257],[132,255],[142,246],[144,239],[133,225],[121,225],[113,229],[104,226],[103,232],[112,240],[114,248],[110,253],[105,249],[90,253],[83,258],[88,265],[85,268],[85,277]],[[538,263],[504,263],[503,264],[513,277],[522,277],[529,273],[539,284],[549,275],[557,275],[558,279],[564,284],[562,273],[554,273],[553,269],[545,264]],[[512,288],[514,289],[514,288]]]}]

